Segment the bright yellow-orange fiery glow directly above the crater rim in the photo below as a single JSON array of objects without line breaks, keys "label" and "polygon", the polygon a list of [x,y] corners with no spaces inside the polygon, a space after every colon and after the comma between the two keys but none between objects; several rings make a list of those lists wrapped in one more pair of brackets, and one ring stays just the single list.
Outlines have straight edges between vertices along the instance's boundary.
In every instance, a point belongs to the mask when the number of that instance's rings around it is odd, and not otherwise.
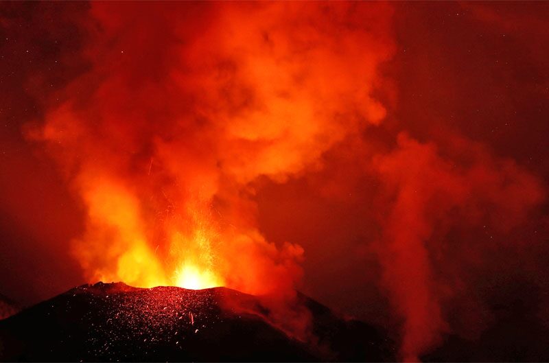
[{"label": "bright yellow-orange fiery glow directly above the crater rim", "polygon": [[[183,223],[186,229],[176,228],[180,226],[177,218],[159,223],[163,229],[172,229],[168,253],[163,254],[159,246],[152,248],[143,229],[146,223],[139,202],[130,191],[112,181],[89,176],[84,180],[89,230],[75,245],[75,253],[84,262],[91,253],[104,255],[105,260],[113,257],[108,264],[91,266],[92,280],[120,280],[142,288],[176,285],[194,290],[224,285],[213,270],[211,244],[218,233],[207,216],[202,215],[200,205],[187,202],[187,218]],[[105,240],[110,243],[105,244]]]}]

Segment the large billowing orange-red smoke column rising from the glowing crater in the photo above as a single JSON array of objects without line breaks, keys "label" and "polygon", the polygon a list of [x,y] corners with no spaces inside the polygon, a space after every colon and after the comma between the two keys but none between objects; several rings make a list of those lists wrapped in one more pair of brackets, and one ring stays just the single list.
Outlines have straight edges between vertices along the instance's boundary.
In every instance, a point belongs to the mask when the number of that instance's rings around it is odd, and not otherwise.
[{"label": "large billowing orange-red smoke column rising from the glowing crater", "polygon": [[264,239],[249,183],[282,183],[382,121],[390,8],[93,3],[89,70],[30,137],[87,209],[91,281],[291,291],[303,249]]}]

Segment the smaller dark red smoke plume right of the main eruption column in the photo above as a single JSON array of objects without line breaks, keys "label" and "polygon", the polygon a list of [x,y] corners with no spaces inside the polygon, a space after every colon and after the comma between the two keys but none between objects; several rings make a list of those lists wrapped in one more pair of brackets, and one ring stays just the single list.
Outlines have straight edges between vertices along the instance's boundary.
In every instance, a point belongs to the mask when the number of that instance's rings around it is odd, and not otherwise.
[{"label": "smaller dark red smoke plume right of the main eruption column", "polygon": [[[441,304],[463,281],[441,278],[432,260],[444,264],[455,257],[449,254],[452,243],[470,248],[449,240],[449,231],[483,228],[493,233],[490,239],[498,238],[524,223],[545,197],[539,180],[513,161],[494,159],[465,139],[452,141],[447,149],[453,157],[444,157],[434,143],[399,134],[397,149],[374,159],[390,206],[380,216],[383,279],[404,317],[402,354],[408,360],[417,360],[449,331]],[[465,257],[475,259],[475,253],[465,250]],[[462,268],[470,263],[461,261]]]}]

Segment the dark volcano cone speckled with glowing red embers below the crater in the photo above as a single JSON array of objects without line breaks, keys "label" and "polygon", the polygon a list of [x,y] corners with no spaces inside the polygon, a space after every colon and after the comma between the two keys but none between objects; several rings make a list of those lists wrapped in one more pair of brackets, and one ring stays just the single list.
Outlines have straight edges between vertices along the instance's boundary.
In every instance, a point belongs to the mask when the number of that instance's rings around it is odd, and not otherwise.
[{"label": "dark volcano cone speckled with glowing red embers below the crater", "polygon": [[272,324],[261,298],[228,288],[82,285],[0,321],[3,361],[386,361],[393,344],[303,294],[309,338]]}]

